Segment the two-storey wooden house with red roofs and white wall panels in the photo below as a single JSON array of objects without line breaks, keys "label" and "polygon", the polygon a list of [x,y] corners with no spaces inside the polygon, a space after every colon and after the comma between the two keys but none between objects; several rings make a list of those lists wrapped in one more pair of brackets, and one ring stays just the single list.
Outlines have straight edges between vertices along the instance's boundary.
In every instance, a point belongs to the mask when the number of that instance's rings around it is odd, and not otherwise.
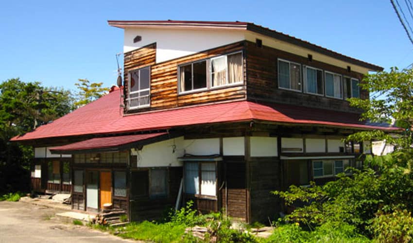
[{"label": "two-storey wooden house with red roofs and white wall panels", "polygon": [[[270,191],[360,166],[370,142],[349,97],[381,67],[248,22],[108,21],[124,30],[123,86],[13,141],[33,145],[35,191],[69,191],[131,220],[175,203],[246,222],[282,211]],[[181,202],[181,203],[182,203]]]}]

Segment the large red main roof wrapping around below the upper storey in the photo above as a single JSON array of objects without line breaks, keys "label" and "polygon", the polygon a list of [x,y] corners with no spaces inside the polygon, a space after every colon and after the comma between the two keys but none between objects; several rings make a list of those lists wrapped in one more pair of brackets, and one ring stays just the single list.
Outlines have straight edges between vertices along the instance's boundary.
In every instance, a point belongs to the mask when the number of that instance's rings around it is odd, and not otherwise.
[{"label": "large red main roof wrapping around below the upper storey", "polygon": [[120,107],[121,89],[103,96],[68,115],[33,132],[17,136],[12,141],[82,135],[121,134],[172,127],[238,121],[268,121],[282,124],[313,124],[354,129],[397,130],[359,121],[354,113],[287,105],[257,104],[239,101],[208,104],[173,110],[123,116]]}]

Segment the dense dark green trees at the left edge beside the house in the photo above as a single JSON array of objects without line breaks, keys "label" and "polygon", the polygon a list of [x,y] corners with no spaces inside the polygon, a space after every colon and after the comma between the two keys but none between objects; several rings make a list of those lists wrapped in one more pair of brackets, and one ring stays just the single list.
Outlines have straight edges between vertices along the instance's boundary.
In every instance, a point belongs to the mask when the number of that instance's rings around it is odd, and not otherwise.
[{"label": "dense dark green trees at the left edge beside the house", "polygon": [[31,147],[9,140],[72,109],[69,90],[43,87],[39,82],[25,83],[18,78],[0,84],[0,192],[24,190],[19,183],[29,179],[27,173],[33,157]]}]

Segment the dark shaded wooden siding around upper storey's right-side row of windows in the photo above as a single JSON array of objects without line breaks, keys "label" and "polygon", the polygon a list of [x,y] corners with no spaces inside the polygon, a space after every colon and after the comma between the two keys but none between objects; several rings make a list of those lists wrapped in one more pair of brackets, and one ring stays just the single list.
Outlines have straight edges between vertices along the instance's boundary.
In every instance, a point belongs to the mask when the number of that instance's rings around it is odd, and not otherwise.
[{"label": "dark shaded wooden siding around upper storey's right-side row of windows", "polygon": [[[306,94],[278,88],[277,83],[277,59],[285,59],[307,65],[313,68],[323,69],[344,76],[362,80],[363,74],[335,67],[319,61],[309,61],[308,58],[294,55],[274,48],[262,46],[258,48],[255,43],[246,41],[246,69],[247,69],[247,100],[257,102],[276,102],[284,104],[302,105],[314,108],[324,108],[347,112],[361,113],[361,110],[350,107],[343,99],[327,98],[320,95]],[[303,71],[302,71],[303,72]],[[302,73],[301,73],[302,74]],[[302,75],[303,78],[303,75]],[[324,78],[323,78],[324,79]],[[303,80],[303,79],[302,79]],[[302,82],[302,88],[304,88]],[[344,84],[344,80],[343,80]],[[345,85],[344,85],[345,88]],[[345,90],[343,89],[345,96]],[[368,98],[368,91],[361,90],[361,98]]]}]

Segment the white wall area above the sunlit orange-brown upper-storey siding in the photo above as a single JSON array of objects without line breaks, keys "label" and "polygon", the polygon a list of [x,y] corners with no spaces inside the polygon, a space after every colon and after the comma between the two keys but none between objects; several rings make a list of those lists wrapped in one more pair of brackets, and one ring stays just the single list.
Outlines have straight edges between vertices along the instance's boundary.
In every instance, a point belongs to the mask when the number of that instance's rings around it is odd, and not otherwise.
[{"label": "white wall area above the sunlit orange-brown upper-storey siding", "polygon": [[[137,35],[142,39],[133,43]],[[123,52],[156,42],[156,63],[160,63],[244,39],[244,33],[235,30],[126,28]]]}]

